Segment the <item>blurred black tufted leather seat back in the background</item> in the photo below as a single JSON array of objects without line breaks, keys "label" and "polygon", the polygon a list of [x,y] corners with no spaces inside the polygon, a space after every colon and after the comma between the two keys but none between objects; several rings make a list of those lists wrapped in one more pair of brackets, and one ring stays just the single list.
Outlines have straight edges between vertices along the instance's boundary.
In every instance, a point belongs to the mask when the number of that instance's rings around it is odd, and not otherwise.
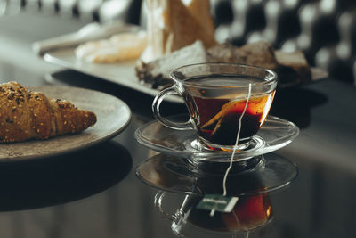
[{"label": "blurred black tufted leather seat back in the background", "polygon": [[[219,42],[230,39],[235,45],[243,45],[263,38],[285,51],[300,49],[313,66],[328,70],[331,78],[356,84],[356,1],[210,2]],[[43,21],[61,19],[65,22],[62,24],[78,26],[91,21],[114,20],[146,25],[144,0],[0,0],[0,37],[9,34],[2,26],[18,28],[20,21],[13,21],[11,16],[19,14],[27,14],[27,18],[28,15],[36,15],[36,18],[43,15]],[[38,23],[33,27],[36,32],[55,32],[56,25]],[[53,34],[48,36],[54,37]]]}]

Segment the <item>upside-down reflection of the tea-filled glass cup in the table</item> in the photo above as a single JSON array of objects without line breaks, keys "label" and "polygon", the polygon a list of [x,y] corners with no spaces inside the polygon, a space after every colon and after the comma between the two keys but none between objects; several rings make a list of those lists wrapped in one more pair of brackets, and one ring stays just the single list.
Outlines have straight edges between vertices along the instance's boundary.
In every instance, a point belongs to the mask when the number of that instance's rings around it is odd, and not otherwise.
[{"label": "upside-down reflection of the tea-filled glass cup in the table", "polygon": [[154,204],[163,218],[172,222],[174,234],[182,237],[231,237],[261,233],[272,220],[269,193],[239,196],[230,212],[201,209],[204,197],[158,191]]}]

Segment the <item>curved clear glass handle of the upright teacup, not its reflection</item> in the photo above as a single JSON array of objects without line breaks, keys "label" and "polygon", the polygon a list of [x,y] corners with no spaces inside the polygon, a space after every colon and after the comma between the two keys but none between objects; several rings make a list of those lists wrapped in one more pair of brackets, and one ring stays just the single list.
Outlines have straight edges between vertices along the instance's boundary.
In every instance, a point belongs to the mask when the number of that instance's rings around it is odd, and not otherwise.
[{"label": "curved clear glass handle of the upright teacup, not its reflection", "polygon": [[175,122],[175,121],[171,121],[169,119],[165,119],[164,117],[161,116],[161,114],[159,112],[159,105],[162,103],[163,99],[168,94],[178,94],[178,93],[175,91],[174,86],[167,87],[166,89],[159,92],[156,95],[155,99],[153,100],[152,111],[153,111],[153,116],[155,117],[155,119],[157,119],[164,126],[172,128],[172,129],[176,129],[176,130],[193,129],[191,119],[186,122]]}]

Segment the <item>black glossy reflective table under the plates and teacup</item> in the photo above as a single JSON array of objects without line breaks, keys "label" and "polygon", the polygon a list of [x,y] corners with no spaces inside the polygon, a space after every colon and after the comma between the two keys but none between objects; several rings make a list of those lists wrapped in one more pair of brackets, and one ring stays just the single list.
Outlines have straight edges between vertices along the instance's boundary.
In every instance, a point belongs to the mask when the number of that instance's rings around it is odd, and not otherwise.
[{"label": "black glossy reflective table under the plates and teacup", "polygon": [[[154,154],[134,139],[136,128],[153,119],[153,98],[100,78],[57,69],[36,58],[30,51],[31,42],[82,24],[69,27],[68,20],[44,19],[23,14],[0,19],[1,81],[15,79],[30,86],[65,84],[113,94],[129,105],[133,118],[120,135],[82,151],[0,161],[0,236],[176,237],[172,221],[154,206],[158,190],[135,176],[136,166]],[[32,35],[28,30],[22,36],[22,30],[37,21],[48,30],[35,29]],[[9,22],[17,27],[10,27]],[[45,80],[49,72],[52,80]],[[292,144],[275,153],[295,162],[299,176],[291,185],[269,194],[271,222],[251,231],[249,237],[355,236],[355,99],[354,86],[332,78],[279,89],[271,114],[295,122],[301,132]],[[185,107],[165,103],[162,111],[178,114]],[[182,204],[182,194],[169,193],[168,197],[166,209],[174,213]],[[191,237],[232,236],[191,229]]]}]

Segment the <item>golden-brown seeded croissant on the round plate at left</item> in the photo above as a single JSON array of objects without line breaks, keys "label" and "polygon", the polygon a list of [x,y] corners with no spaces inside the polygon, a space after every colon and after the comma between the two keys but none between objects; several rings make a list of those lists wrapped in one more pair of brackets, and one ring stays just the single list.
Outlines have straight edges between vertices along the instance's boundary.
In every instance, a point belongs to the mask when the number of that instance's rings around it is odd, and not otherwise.
[{"label": "golden-brown seeded croissant on the round plate at left", "polygon": [[0,143],[74,134],[96,123],[92,111],[30,92],[17,82],[0,85]]}]

